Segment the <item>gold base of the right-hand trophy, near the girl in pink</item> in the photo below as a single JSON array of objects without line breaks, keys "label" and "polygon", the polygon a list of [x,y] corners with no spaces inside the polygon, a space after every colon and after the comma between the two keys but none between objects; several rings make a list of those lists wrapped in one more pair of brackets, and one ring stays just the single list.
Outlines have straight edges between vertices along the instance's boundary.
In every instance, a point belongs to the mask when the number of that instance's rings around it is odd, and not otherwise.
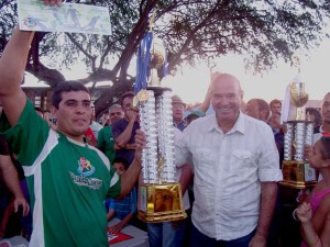
[{"label": "gold base of the right-hand trophy, near the girl in pink", "polygon": [[316,171],[308,161],[284,160],[282,172],[280,186],[304,190],[317,183]]}]

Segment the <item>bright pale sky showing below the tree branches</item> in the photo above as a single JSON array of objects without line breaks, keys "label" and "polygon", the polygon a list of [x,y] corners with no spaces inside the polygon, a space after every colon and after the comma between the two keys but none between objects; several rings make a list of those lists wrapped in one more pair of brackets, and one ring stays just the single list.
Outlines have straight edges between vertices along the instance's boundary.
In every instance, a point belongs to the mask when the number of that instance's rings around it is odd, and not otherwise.
[{"label": "bright pale sky showing below the tree branches", "polygon": [[[305,89],[310,100],[321,100],[326,92],[330,91],[330,40],[324,40],[321,45],[309,54],[300,54],[300,79],[305,82]],[[66,79],[84,78],[86,71],[73,68],[64,72]],[[132,69],[134,71],[135,68]],[[284,100],[286,87],[298,75],[298,70],[289,64],[278,61],[276,68],[265,71],[264,75],[253,76],[246,72],[243,59],[235,56],[218,58],[212,71],[230,72],[239,78],[244,91],[244,101],[261,98],[270,102],[273,99]],[[201,103],[210,82],[210,68],[200,65],[196,68],[187,68],[178,71],[174,77],[168,76],[162,80],[162,85],[173,89],[173,94],[178,94],[186,103]],[[33,76],[26,77],[26,83],[36,83]]]}]

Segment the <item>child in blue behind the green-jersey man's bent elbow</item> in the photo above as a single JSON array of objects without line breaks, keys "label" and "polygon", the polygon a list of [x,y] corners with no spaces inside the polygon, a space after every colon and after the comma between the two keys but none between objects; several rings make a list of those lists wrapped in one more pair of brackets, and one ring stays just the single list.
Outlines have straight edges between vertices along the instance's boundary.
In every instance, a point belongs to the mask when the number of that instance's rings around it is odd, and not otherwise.
[{"label": "child in blue behind the green-jersey man's bent elbow", "polygon": [[[129,168],[129,164],[124,158],[114,158],[113,168],[119,175],[123,175]],[[110,233],[120,232],[128,223],[132,223],[134,215],[138,212],[136,206],[136,189],[133,187],[131,192],[122,200],[110,199],[106,202],[108,210],[107,220],[113,217],[121,220],[116,225],[111,226]]]}]

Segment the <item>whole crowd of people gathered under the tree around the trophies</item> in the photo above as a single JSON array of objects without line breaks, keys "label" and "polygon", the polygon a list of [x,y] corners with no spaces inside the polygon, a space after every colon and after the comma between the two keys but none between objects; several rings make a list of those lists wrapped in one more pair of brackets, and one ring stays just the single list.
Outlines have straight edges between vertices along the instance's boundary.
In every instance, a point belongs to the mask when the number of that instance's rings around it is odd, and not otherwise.
[{"label": "whole crowd of people gathered under the tree around the trophies", "polygon": [[176,179],[188,217],[143,223],[136,214],[147,143],[134,92],[98,122],[88,89],[62,82],[52,96],[55,124],[21,89],[33,36],[16,27],[0,59],[0,238],[22,235],[32,247],[109,246],[106,228],[117,217],[110,233],[135,225],[151,247],[330,246],[330,92],[320,111],[306,110],[315,122],[306,158],[319,181],[290,212],[301,227],[298,244],[283,233],[282,101],[251,99],[243,108],[243,89],[230,74],[212,74],[205,101],[186,117],[185,102],[172,97]]}]

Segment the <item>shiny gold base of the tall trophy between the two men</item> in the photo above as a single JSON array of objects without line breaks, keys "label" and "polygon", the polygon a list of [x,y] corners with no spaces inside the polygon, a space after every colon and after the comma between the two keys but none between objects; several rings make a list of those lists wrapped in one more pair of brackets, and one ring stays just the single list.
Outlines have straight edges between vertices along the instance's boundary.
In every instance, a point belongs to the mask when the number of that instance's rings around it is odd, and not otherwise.
[{"label": "shiny gold base of the tall trophy between the two men", "polygon": [[140,200],[138,217],[144,222],[169,222],[187,217],[178,183],[143,184],[140,187]]}]

